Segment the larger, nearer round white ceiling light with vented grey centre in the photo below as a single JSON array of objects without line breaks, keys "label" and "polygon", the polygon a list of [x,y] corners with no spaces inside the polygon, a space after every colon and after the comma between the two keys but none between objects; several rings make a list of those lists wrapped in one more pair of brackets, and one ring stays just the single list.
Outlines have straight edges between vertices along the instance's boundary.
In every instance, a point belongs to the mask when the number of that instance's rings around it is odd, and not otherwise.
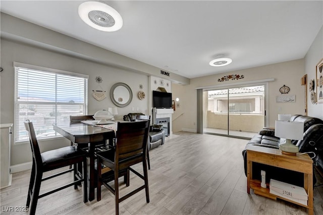
[{"label": "larger, nearer round white ceiling light with vented grey centre", "polygon": [[84,2],[79,6],[81,19],[100,31],[118,31],[122,25],[121,15],[109,5],[100,2]]}]

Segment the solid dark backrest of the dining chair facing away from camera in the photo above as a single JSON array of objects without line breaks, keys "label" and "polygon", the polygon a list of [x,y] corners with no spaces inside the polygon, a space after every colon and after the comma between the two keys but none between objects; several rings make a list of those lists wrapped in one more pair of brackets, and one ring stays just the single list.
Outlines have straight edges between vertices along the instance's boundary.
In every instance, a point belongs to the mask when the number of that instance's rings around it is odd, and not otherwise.
[{"label": "solid dark backrest of the dining chair facing away from camera", "polygon": [[146,156],[149,121],[118,123],[116,160],[139,153]]}]

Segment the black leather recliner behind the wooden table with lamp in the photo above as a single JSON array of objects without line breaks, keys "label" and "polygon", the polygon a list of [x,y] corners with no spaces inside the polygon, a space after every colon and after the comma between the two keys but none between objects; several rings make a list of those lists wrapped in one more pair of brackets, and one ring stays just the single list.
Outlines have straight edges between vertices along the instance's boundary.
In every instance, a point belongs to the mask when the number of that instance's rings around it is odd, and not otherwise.
[{"label": "black leather recliner behind the wooden table with lamp", "polygon": [[[323,169],[323,121],[309,116],[293,115],[290,121],[303,122],[304,134],[303,140],[292,140],[294,145],[299,147],[299,152],[314,152],[313,165]],[[258,134],[254,135],[247,143],[259,147],[279,147],[280,138],[275,137],[274,129],[262,129]],[[246,148],[247,148],[246,146]],[[244,170],[247,176],[247,151],[246,148],[242,151],[244,158]],[[311,157],[312,153],[309,154]],[[304,176],[301,173],[271,167],[263,164],[253,163],[252,175],[254,179],[260,180],[260,171],[266,171],[266,182],[270,179],[284,181],[297,186],[304,185]],[[315,175],[313,174],[313,184],[316,183]]]}]

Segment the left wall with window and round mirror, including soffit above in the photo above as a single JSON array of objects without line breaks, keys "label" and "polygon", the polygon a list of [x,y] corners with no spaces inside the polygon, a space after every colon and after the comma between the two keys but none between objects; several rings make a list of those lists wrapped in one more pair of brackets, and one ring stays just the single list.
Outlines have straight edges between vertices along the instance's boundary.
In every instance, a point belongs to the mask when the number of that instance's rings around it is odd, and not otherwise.
[{"label": "left wall with window and round mirror, including soffit above", "polygon": [[[1,109],[0,123],[14,123],[15,73],[13,62],[25,63],[46,68],[89,75],[88,114],[115,106],[110,99],[110,88],[117,82],[130,86],[133,92],[132,102],[125,108],[118,108],[116,119],[131,112],[150,114],[151,75],[164,79],[160,69],[142,62],[121,56],[112,51],[88,44],[61,33],[43,28],[24,20],[1,13],[1,67],[0,76]],[[170,73],[168,81],[188,84],[189,79]],[[102,83],[95,82],[100,76]],[[139,85],[143,85],[146,98],[139,100]],[[92,90],[103,88],[106,98],[97,101],[92,97]],[[13,128],[13,135],[15,130]],[[65,138],[53,141],[40,141],[41,151],[65,145]],[[17,172],[28,169],[32,160],[30,146],[27,143],[16,144],[11,140],[11,170]]]}]

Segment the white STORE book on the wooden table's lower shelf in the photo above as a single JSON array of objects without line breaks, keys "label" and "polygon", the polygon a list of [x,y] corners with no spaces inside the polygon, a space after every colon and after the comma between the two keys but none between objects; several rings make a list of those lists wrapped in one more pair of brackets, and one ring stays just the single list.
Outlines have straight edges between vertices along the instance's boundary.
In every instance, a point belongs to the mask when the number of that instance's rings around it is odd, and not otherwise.
[{"label": "white STORE book on the wooden table's lower shelf", "polygon": [[270,193],[307,205],[308,195],[303,187],[271,179]]}]

